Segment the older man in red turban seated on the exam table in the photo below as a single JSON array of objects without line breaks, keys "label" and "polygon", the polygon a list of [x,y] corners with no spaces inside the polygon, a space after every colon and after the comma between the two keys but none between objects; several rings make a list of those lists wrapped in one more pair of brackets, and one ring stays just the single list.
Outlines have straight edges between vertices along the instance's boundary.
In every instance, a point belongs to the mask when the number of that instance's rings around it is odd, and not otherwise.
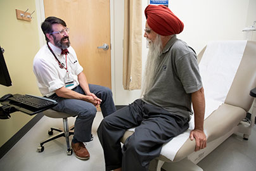
[{"label": "older man in red turban seated on the exam table", "polygon": [[[98,128],[104,150],[106,170],[148,170],[160,155],[162,144],[188,129],[193,103],[195,151],[205,148],[203,132],[205,99],[193,49],[176,34],[183,23],[165,6],[145,9],[144,37],[150,51],[144,74],[143,98],[105,117]],[[136,127],[134,134],[120,146],[124,132]]]}]

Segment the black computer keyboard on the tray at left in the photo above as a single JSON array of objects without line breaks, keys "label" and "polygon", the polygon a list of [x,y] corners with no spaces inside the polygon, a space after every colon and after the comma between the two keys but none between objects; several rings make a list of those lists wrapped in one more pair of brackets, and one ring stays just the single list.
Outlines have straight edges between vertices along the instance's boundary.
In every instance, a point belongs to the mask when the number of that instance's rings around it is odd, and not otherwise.
[{"label": "black computer keyboard on the tray at left", "polygon": [[28,94],[13,94],[13,97],[8,99],[13,105],[25,105],[37,109],[52,107],[57,104],[57,102],[52,99],[32,96]]}]

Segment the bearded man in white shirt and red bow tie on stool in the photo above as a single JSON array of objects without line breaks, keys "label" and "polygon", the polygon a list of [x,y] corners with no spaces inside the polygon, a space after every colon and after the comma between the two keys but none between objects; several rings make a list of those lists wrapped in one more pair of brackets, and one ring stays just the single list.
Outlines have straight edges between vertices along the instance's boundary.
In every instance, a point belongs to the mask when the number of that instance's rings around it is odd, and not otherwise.
[{"label": "bearded man in white shirt and red bow tie on stool", "polygon": [[58,101],[54,110],[77,116],[72,149],[77,158],[89,159],[83,142],[92,141],[91,127],[96,106],[101,106],[103,117],[116,111],[112,91],[107,87],[88,84],[77,55],[70,46],[69,28],[60,18],[49,16],[41,25],[46,37],[34,58],[34,73],[42,96]]}]

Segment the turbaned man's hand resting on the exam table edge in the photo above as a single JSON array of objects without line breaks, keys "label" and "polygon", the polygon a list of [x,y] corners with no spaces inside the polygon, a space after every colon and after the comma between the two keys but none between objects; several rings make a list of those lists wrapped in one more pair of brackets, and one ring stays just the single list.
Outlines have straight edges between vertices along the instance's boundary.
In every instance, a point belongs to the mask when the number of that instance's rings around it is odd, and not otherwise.
[{"label": "turbaned man's hand resting on the exam table edge", "polygon": [[198,151],[198,150],[206,147],[207,138],[206,138],[205,132],[203,132],[203,130],[200,130],[200,129],[191,130],[189,138],[191,139],[191,141],[194,138],[196,140],[195,151]]}]

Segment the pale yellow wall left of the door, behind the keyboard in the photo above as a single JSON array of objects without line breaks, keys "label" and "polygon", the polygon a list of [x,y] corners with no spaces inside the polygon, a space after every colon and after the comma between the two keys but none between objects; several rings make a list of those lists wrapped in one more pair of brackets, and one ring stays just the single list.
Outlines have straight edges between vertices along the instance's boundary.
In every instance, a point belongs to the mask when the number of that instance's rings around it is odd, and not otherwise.
[{"label": "pale yellow wall left of the door, behind the keyboard", "polygon": [[[29,13],[35,10],[35,0],[0,1],[0,46],[4,47],[4,59],[13,85],[0,85],[0,96],[4,94],[34,94],[40,96],[32,71],[33,58],[39,50],[39,35],[36,12],[32,21],[16,19],[15,9]],[[20,130],[32,117],[21,112],[11,114],[11,119],[0,120],[0,146]]]}]

